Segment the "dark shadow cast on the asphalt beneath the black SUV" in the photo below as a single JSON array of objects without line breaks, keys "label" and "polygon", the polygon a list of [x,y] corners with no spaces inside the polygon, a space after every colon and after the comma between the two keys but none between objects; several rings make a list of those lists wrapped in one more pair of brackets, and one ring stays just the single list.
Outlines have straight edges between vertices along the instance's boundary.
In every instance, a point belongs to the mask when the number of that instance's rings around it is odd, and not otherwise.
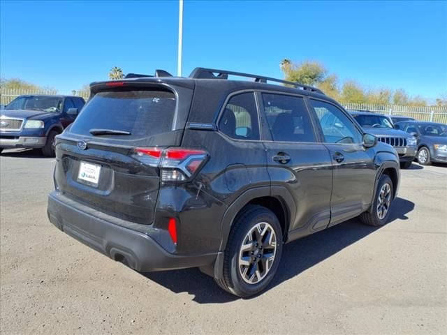
[{"label": "dark shadow cast on the asphalt beneath the black SUV", "polygon": [[[407,220],[406,214],[413,209],[413,202],[396,198],[388,225],[393,224],[397,219]],[[364,225],[358,218],[354,218],[286,244],[277,274],[267,290],[298,276],[303,271],[379,229]],[[198,269],[140,272],[140,274],[175,293],[188,292],[194,296],[193,301],[198,304],[221,304],[240,299],[221,290],[214,283],[213,278],[202,274]]]}]

